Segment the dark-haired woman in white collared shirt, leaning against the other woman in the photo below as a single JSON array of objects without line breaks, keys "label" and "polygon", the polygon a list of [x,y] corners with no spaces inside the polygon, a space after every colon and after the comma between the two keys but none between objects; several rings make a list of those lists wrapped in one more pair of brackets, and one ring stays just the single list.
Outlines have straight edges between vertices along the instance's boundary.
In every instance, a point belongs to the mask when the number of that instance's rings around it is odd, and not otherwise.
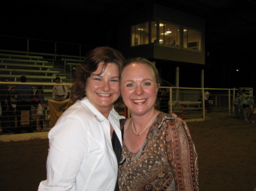
[{"label": "dark-haired woman in white collared shirt, leaning against the other woman", "polygon": [[[76,73],[75,101],[49,131],[47,180],[38,190],[114,190],[118,162],[112,138],[121,146],[113,103],[119,97],[124,58],[109,47],[93,49]],[[116,144],[115,143],[115,144]]]}]

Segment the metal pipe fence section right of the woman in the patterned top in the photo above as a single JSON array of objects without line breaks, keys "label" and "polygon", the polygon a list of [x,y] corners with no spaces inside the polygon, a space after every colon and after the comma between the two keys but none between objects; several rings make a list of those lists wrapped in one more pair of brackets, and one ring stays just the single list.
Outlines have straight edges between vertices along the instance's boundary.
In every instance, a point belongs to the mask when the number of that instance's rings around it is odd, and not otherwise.
[{"label": "metal pipe fence section right of the woman in the patterned top", "polygon": [[[253,88],[245,87],[248,96],[253,96]],[[208,91],[208,100],[204,92]],[[207,113],[234,113],[233,100],[236,88],[187,88],[160,87],[156,99],[156,108],[166,113],[176,113],[187,121],[205,120]]]}]

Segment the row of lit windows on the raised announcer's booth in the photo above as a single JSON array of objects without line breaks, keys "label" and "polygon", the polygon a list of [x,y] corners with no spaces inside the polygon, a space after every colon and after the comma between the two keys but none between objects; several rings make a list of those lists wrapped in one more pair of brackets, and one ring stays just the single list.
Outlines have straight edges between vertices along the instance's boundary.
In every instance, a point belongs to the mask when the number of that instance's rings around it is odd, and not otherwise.
[{"label": "row of lit windows on the raised announcer's booth", "polygon": [[131,27],[131,46],[155,43],[201,51],[201,39],[200,31],[183,27],[181,33],[181,26],[163,21],[145,22]]}]

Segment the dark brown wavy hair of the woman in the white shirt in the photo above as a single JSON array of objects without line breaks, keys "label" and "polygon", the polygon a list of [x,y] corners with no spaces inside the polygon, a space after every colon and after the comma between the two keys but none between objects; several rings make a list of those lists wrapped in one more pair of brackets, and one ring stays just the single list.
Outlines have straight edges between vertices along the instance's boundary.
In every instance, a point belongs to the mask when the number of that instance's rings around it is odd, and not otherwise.
[{"label": "dark brown wavy hair of the woman in the white shirt", "polygon": [[118,65],[119,73],[121,74],[124,61],[125,58],[118,50],[115,50],[108,46],[101,46],[91,50],[88,54],[86,54],[84,63],[81,63],[77,67],[73,86],[71,87],[71,100],[81,100],[83,97],[86,96],[86,80],[94,71],[98,69],[98,65],[101,62],[104,63],[104,67],[101,73],[104,72],[105,67],[106,65],[108,65],[108,63],[115,63],[116,65]]}]

